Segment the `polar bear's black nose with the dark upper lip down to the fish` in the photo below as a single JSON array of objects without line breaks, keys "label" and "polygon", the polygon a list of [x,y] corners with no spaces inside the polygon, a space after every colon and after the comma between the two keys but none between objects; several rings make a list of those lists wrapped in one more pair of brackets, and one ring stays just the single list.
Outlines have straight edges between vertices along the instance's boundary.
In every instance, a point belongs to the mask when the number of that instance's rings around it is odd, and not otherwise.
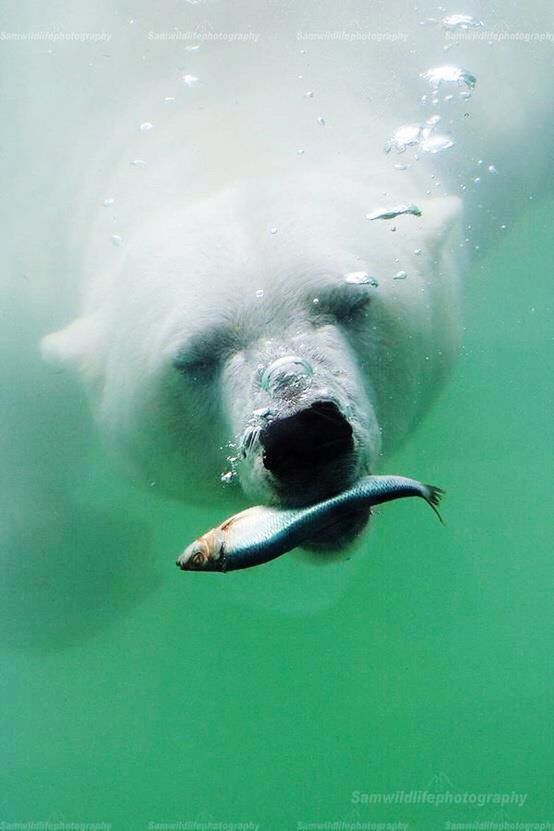
[{"label": "polar bear's black nose with the dark upper lip down to the fish", "polygon": [[321,498],[350,484],[352,425],[333,401],[274,419],[260,434],[263,465],[289,502]]}]

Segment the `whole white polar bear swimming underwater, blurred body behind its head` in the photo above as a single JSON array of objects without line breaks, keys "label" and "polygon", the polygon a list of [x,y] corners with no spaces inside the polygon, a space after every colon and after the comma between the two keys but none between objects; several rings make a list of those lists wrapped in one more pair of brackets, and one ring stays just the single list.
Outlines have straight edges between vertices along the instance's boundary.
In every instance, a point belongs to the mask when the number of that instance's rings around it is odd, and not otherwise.
[{"label": "whole white polar bear swimming underwater, blurred body behind its head", "polygon": [[[465,11],[476,30],[553,28],[543,3],[525,20],[515,2]],[[6,31],[96,40],[24,61],[3,44],[24,128],[2,125],[7,296],[51,425],[40,439],[10,400],[6,470],[18,446],[43,460],[15,514],[83,478],[77,428],[53,440],[70,377],[107,455],[180,501],[305,504],[382,467],[455,357],[467,261],[540,193],[547,143],[521,148],[550,123],[549,43],[454,42],[434,4],[403,0],[53,15],[22,3]],[[385,218],[402,206],[417,210]],[[319,543],[341,549],[366,519]]]}]

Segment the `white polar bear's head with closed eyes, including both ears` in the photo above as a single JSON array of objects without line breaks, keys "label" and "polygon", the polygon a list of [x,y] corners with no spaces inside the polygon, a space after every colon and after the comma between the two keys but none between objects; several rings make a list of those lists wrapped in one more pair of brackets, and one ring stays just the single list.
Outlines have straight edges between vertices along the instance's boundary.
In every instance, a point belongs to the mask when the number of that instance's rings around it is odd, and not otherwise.
[{"label": "white polar bear's head with closed eyes, including both ears", "polygon": [[410,429],[456,341],[458,201],[370,222],[380,194],[319,171],[155,205],[43,353],[173,496],[336,493]]}]

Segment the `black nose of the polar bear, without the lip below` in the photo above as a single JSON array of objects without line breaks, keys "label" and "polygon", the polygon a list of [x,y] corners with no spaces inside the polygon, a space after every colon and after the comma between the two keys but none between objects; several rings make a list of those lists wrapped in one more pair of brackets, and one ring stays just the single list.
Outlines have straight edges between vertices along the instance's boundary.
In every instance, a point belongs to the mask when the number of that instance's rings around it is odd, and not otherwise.
[{"label": "black nose of the polar bear, without the lip below", "polygon": [[[352,427],[332,401],[317,401],[292,416],[276,419],[262,432],[264,465],[283,484],[310,481],[324,471],[340,476],[354,443]],[[328,476],[328,474],[325,474]]]}]

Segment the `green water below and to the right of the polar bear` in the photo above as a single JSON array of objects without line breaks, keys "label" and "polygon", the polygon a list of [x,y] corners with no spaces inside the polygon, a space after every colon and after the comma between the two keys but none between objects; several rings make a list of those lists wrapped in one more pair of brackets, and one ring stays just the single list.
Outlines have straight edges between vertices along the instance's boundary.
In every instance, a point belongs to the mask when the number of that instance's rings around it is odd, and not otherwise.
[{"label": "green water below and to the right of the polar bear", "polygon": [[[45,545],[18,567],[2,604],[1,821],[554,822],[553,216],[530,210],[467,275],[460,361],[387,464],[447,489],[446,528],[386,506],[332,567],[328,602],[322,569],[294,558],[179,573],[189,521],[217,516],[142,496],[155,530],[149,544],[130,524],[141,557],[108,524],[82,559],[49,564]],[[352,802],[425,790],[525,802]]]}]

